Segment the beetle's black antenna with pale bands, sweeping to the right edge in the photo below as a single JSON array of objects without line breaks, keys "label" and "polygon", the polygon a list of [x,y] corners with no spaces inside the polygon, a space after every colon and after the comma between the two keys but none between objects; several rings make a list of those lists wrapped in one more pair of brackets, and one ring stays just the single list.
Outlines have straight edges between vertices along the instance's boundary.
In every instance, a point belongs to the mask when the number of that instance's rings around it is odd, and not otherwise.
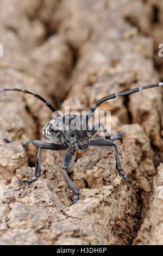
[{"label": "beetle's black antenna with pale bands, sweeping to the right edge", "polygon": [[112,93],[110,95],[107,95],[105,97],[103,97],[101,100],[98,100],[91,108],[89,108],[85,114],[85,119],[89,120],[90,118],[93,117],[93,115],[95,114],[95,110],[96,108],[101,105],[101,103],[105,102],[106,100],[112,100],[115,99],[115,97],[120,97],[120,96],[126,96],[132,93],[137,93],[140,90],[145,90],[145,89],[149,89],[149,88],[153,88],[153,87],[158,87],[158,86],[163,86],[163,82],[160,83],[153,83],[153,84],[149,84],[149,86],[143,86],[143,87],[137,87],[135,89],[131,89],[131,90],[126,90],[122,93]]}]

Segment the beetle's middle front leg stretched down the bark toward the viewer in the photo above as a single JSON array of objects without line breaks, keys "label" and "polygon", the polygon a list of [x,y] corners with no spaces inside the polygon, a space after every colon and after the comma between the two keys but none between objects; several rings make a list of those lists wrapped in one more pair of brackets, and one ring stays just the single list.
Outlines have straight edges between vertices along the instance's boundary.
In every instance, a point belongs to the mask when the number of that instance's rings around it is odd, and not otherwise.
[{"label": "beetle's middle front leg stretched down the bark toward the viewer", "polygon": [[66,180],[68,182],[68,185],[70,186],[72,192],[74,193],[74,199],[73,202],[71,203],[74,204],[79,200],[79,191],[77,190],[76,186],[73,185],[71,179],[69,178],[66,170],[68,169],[68,166],[70,165],[70,161],[72,159],[72,154],[73,154],[73,150],[69,149],[68,152],[65,155],[64,161],[63,161],[63,168],[64,168],[64,174],[66,177]]}]

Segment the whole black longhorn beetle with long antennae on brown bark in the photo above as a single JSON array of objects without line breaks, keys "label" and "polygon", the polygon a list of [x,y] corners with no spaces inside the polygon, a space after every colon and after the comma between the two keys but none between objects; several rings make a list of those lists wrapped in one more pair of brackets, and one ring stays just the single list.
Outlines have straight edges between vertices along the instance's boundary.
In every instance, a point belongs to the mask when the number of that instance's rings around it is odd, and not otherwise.
[{"label": "whole black longhorn beetle with long antennae on brown bark", "polygon": [[[96,108],[106,100],[111,100],[114,99],[115,97],[119,96],[126,96],[132,93],[137,93],[140,90],[148,89],[148,88],[153,88],[153,87],[158,87],[158,86],[163,86],[163,82],[160,83],[154,83],[150,84],[149,86],[143,86],[143,87],[138,87],[135,89],[131,90],[126,90],[125,92],[122,93],[113,93],[108,96],[103,97],[101,100],[98,100],[95,105],[93,105],[91,108],[89,108],[86,112],[85,115],[76,115],[75,120],[76,123],[78,123],[79,129],[72,130],[71,129],[71,121],[74,119],[74,114],[69,114],[69,115],[62,115],[60,114],[52,105],[50,102],[46,101],[41,97],[40,95],[36,93],[29,92],[26,89],[17,89],[17,88],[8,88],[8,89],[0,89],[0,93],[5,92],[5,91],[17,91],[17,92],[23,92],[27,94],[31,94],[37,99],[43,101],[48,108],[51,109],[52,112],[55,112],[57,114],[56,118],[53,118],[51,121],[48,121],[48,123],[43,127],[43,135],[48,138],[49,140],[52,141],[52,143],[47,143],[44,141],[39,141],[39,140],[32,140],[32,141],[27,141],[23,142],[22,145],[25,147],[29,143],[33,143],[34,145],[39,147],[38,154],[37,154],[37,161],[36,161],[36,166],[35,166],[35,176],[31,178],[30,180],[21,180],[20,182],[27,182],[31,183],[35,181],[41,174],[41,149],[50,149],[50,150],[65,150],[68,149],[64,161],[63,161],[63,170],[65,177],[67,179],[68,185],[70,186],[71,190],[74,193],[74,199],[71,204],[74,204],[79,200],[79,191],[76,188],[76,186],[73,185],[71,179],[67,175],[67,169],[70,164],[72,154],[73,154],[73,148],[78,148],[80,150],[84,150],[89,145],[92,146],[113,146],[115,148],[115,156],[116,156],[116,168],[118,170],[118,173],[123,177],[124,180],[127,182],[131,182],[124,173],[122,172],[122,167],[121,167],[121,162],[120,162],[120,157],[118,156],[118,151],[116,144],[113,143],[115,139],[120,139],[122,138],[123,132],[118,133],[118,135],[111,137],[107,130],[105,129],[105,126],[103,123],[96,123],[93,127],[92,130],[89,129],[88,125],[88,120],[93,117],[95,114]],[[62,126],[64,124],[64,126]],[[82,125],[86,125],[86,129],[82,129]],[[64,129],[60,129],[61,127],[64,127]],[[105,133],[105,138],[98,138],[98,139],[90,139],[99,127],[102,126],[102,129]],[[8,139],[4,139],[5,142],[7,143],[12,143],[8,141]]]}]

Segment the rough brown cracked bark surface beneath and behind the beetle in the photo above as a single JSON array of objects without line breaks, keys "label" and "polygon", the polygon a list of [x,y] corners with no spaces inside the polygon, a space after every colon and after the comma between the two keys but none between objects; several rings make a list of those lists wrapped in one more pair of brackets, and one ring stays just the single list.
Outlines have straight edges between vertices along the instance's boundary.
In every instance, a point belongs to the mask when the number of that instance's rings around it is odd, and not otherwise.
[{"label": "rough brown cracked bark surface beneath and behind the beetle", "polygon": [[[34,0],[30,8],[29,1],[17,0],[15,8],[10,0],[8,6],[0,1],[0,88],[26,88],[60,109],[82,111],[105,95],[162,78],[155,54],[162,5],[154,0]],[[66,151],[43,151],[41,177],[18,183],[33,176],[37,154],[21,142],[43,139],[52,113],[35,97],[15,92],[0,95],[0,109],[1,245],[162,244],[160,88],[99,107],[111,111],[112,135],[125,132],[116,144],[132,184],[118,175],[111,147],[74,151],[69,175],[80,200],[72,206],[62,173]]]}]

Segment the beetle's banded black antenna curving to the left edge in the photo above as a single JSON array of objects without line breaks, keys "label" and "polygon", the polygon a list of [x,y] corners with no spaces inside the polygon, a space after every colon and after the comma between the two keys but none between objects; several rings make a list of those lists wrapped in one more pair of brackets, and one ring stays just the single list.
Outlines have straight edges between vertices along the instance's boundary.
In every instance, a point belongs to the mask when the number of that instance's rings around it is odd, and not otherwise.
[{"label": "beetle's banded black antenna curving to the left edge", "polygon": [[5,91],[9,91],[9,90],[10,90],[10,91],[17,91],[17,92],[22,92],[22,93],[31,94],[31,95],[33,95],[34,97],[36,97],[37,99],[43,101],[43,102],[46,104],[46,106],[51,109],[52,112],[57,112],[56,114],[57,114],[57,115],[60,115],[59,112],[57,111],[57,109],[55,109],[55,108],[52,106],[51,102],[45,100],[45,99],[44,99],[43,97],[41,97],[39,94],[29,92],[29,91],[26,90],[26,89],[17,89],[17,88],[4,88],[4,89],[0,89],[0,93],[5,92]]}]

